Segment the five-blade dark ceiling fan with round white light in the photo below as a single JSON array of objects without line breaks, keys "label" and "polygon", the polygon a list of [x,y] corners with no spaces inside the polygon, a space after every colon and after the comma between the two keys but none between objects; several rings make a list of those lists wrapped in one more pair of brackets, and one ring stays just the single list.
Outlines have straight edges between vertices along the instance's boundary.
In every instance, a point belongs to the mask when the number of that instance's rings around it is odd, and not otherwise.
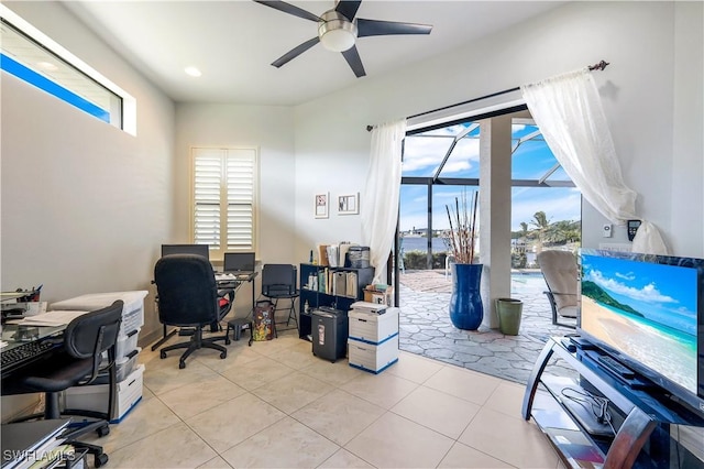
[{"label": "five-blade dark ceiling fan with round white light", "polygon": [[302,18],[318,23],[318,35],[302,44],[292,48],[286,54],[272,63],[275,67],[280,67],[289,61],[298,57],[304,52],[317,43],[329,51],[341,52],[348,61],[350,68],[358,78],[366,75],[362,59],[354,43],[358,37],[383,36],[396,34],[430,34],[432,26],[429,24],[398,23],[394,21],[364,20],[354,18],[362,1],[339,0],[334,9],[328,10],[320,17],[310,13],[301,8],[286,3],[285,1],[261,1],[254,0],[284,13]]}]

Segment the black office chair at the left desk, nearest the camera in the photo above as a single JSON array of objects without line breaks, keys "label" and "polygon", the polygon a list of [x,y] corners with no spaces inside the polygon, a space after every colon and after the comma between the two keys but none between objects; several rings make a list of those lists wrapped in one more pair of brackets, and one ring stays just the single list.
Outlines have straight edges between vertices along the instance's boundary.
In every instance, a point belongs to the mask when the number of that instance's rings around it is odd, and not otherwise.
[{"label": "black office chair at the left desk, nearest the camera", "polygon": [[[45,360],[19,370],[9,380],[2,382],[2,393],[26,394],[42,392],[45,395],[44,413],[30,415],[14,422],[34,418],[61,418],[67,415],[80,415],[97,418],[84,421],[76,429],[62,435],[76,448],[86,449],[95,456],[95,467],[108,462],[108,455],[102,447],[78,441],[81,435],[96,432],[98,436],[110,433],[109,421],[114,405],[116,345],[122,321],[123,302],[87,313],[72,320],[63,336],[63,348]],[[103,353],[105,352],[105,353]],[[107,360],[105,357],[107,356]],[[59,410],[59,395],[73,386],[90,384],[99,374],[109,373],[108,412]]]}]

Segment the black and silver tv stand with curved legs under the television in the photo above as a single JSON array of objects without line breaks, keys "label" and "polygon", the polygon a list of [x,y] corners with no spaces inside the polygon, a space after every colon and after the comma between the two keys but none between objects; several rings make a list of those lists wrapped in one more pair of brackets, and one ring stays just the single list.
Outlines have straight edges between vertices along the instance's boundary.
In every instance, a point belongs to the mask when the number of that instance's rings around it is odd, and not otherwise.
[{"label": "black and silver tv stand with curved legs under the television", "polygon": [[[607,371],[594,356],[592,347],[569,347],[562,338],[550,338],[543,347],[526,386],[521,414],[525,419],[534,418],[548,436],[565,467],[582,468],[603,466],[604,468],[630,468],[637,460],[648,460],[646,466],[668,467],[662,460],[653,460],[650,455],[641,455],[641,449],[659,424],[704,426],[704,419],[688,408],[668,400],[661,392],[649,392],[639,386],[645,380],[637,374],[625,379]],[[551,358],[559,357],[574,368],[581,377],[580,382],[569,378],[543,374]],[[634,382],[636,385],[629,385]],[[536,399],[542,384],[551,399]],[[584,384],[588,388],[582,388]],[[619,422],[614,422],[613,432],[606,430],[596,416],[585,413],[574,415],[574,403],[566,401],[570,392],[596,393],[608,400],[608,405],[617,411]],[[620,417],[625,419],[620,422]],[[591,419],[593,417],[593,419]],[[591,433],[590,433],[591,432]],[[610,435],[609,435],[610,434]],[[670,444],[669,441],[667,443]],[[668,452],[668,451],[663,451]],[[660,458],[668,456],[652,456]]]}]

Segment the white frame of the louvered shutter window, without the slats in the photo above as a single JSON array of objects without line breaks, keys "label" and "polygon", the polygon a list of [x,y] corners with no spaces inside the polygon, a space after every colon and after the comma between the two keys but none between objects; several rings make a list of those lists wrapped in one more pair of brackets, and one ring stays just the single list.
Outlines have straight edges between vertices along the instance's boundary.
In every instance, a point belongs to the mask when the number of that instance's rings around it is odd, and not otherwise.
[{"label": "white frame of the louvered shutter window, without the slats", "polygon": [[[212,244],[210,246],[210,259],[216,261],[221,261],[224,258],[226,252],[256,252],[258,246],[258,208],[260,208],[260,150],[255,146],[220,146],[220,145],[194,145],[190,148],[190,204],[189,204],[189,230],[190,230],[190,240],[196,243],[196,209],[197,209],[197,200],[196,200],[196,162],[198,159],[198,152],[213,152],[220,151],[222,152],[221,157],[223,159],[223,163],[221,164],[221,174],[220,174],[220,220],[219,220],[219,232],[220,232],[220,247],[216,248]],[[227,176],[227,160],[242,157],[242,152],[251,152],[252,162],[252,179],[250,181],[252,193],[252,223],[251,223],[251,246],[242,247],[242,248],[228,248],[228,176]],[[212,155],[209,155],[211,157]]]}]

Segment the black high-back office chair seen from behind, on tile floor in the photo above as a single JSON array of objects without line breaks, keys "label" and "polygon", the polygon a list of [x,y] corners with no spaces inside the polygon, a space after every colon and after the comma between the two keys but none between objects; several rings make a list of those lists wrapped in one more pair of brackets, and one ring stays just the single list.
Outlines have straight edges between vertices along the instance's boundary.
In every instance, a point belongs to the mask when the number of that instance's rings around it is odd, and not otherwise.
[{"label": "black high-back office chair seen from behind, on tile floor", "polygon": [[189,341],[164,347],[160,357],[166,358],[169,350],[186,349],[178,362],[180,369],[186,368],[188,356],[201,348],[219,350],[220,358],[226,358],[228,349],[215,341],[224,340],[226,345],[230,345],[227,334],[202,337],[205,326],[219,324],[232,308],[230,298],[218,294],[210,261],[194,254],[165,255],[156,261],[154,283],[158,296],[160,321],[168,326],[194,328]]}]

